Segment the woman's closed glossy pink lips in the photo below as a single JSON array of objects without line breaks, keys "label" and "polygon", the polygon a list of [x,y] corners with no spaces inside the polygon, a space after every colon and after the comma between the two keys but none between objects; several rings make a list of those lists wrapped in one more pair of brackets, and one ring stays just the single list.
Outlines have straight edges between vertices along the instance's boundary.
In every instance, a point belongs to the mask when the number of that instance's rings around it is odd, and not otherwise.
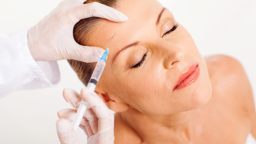
[{"label": "woman's closed glossy pink lips", "polygon": [[178,79],[176,86],[173,90],[180,90],[191,85],[200,75],[200,68],[198,63],[193,64],[185,71]]}]

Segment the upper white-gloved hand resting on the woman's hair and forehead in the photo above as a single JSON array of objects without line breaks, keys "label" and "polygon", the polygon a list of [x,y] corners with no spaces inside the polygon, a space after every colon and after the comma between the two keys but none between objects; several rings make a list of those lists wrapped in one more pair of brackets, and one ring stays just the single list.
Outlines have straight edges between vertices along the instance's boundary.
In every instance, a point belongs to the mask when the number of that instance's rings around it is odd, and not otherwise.
[{"label": "upper white-gloved hand resting on the woman's hair and forehead", "polygon": [[81,46],[75,42],[73,28],[84,18],[100,17],[113,22],[124,22],[127,16],[100,3],[83,4],[87,0],[64,0],[49,15],[29,29],[27,44],[35,61],[74,59],[95,62],[104,50]]}]

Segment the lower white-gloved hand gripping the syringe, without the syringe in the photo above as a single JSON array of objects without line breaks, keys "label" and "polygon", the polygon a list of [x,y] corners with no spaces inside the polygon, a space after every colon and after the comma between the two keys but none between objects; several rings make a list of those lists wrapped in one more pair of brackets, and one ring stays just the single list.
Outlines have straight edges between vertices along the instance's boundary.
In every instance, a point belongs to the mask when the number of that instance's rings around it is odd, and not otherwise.
[{"label": "lower white-gloved hand gripping the syringe, without the syringe", "polygon": [[[95,92],[83,88],[80,95],[75,90],[66,88],[63,96],[76,109],[79,107],[76,103],[81,101],[81,97],[90,103],[91,108],[85,111],[79,126],[87,135],[87,144],[114,144],[114,114]],[[75,115],[74,109],[58,112],[60,120],[57,121],[57,132],[61,144],[80,144],[72,124],[68,122],[73,121]]]}]

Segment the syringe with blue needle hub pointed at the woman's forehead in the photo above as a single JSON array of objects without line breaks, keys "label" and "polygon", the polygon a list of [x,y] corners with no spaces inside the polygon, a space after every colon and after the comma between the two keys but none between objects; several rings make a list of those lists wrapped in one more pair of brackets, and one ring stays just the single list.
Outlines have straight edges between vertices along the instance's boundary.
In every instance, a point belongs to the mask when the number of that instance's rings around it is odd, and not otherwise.
[{"label": "syringe with blue needle hub pointed at the woman's forehead", "polygon": [[[113,36],[114,37],[114,36]],[[112,37],[112,40],[113,40],[113,37]],[[111,42],[112,42],[111,40]],[[110,44],[111,44],[110,42]],[[109,44],[109,46],[110,46]],[[97,62],[97,65],[93,71],[93,75],[91,75],[91,79],[87,85],[87,89],[89,89],[90,91],[95,91],[95,88],[97,86],[97,83],[99,82],[99,78],[101,77],[101,74],[103,72],[103,69],[105,68],[105,65],[106,65],[106,58],[108,56],[108,53],[109,53],[109,49],[106,49],[103,56],[101,57],[101,60],[99,60]],[[81,121],[82,121],[82,118],[83,118],[83,115],[84,115],[84,112],[86,111],[86,109],[90,109],[91,106],[88,102],[86,101],[83,101],[83,99],[78,102],[76,105],[79,105],[79,108],[76,112],[76,116],[75,116],[75,119],[73,121],[73,127],[74,129],[76,130],[78,128],[78,126],[80,125]]]}]

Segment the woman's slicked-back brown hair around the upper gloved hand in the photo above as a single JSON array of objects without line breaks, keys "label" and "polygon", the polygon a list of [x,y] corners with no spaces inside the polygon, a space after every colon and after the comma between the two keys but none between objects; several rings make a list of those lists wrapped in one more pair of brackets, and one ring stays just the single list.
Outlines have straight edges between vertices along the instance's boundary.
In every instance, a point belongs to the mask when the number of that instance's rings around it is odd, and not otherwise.
[{"label": "woman's slicked-back brown hair around the upper gloved hand", "polygon": [[[84,4],[98,2],[109,7],[116,7],[117,0],[88,0]],[[97,30],[99,22],[103,20],[102,18],[92,17],[80,20],[75,24],[73,35],[75,41],[79,45],[90,46],[90,39],[94,38],[93,33]],[[87,86],[89,83],[90,77],[93,74],[93,70],[96,66],[96,62],[85,63],[77,60],[68,60],[68,63],[74,69],[78,78],[82,83]]]}]

